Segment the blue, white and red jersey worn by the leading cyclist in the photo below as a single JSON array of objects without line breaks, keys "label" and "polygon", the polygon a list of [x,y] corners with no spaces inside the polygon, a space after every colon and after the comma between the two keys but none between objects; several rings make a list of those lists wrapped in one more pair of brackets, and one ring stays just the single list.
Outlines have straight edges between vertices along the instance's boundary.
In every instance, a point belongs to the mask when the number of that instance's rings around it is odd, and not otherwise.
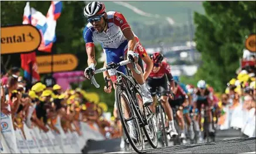
[{"label": "blue, white and red jersey worn by the leading cyclist", "polygon": [[[106,62],[119,63],[124,60],[124,53],[128,49],[128,41],[122,31],[131,27],[120,12],[107,12],[107,23],[107,31],[101,33],[97,32],[91,23],[86,25],[83,31],[86,49],[87,47],[93,47],[94,41],[97,40],[104,49]],[[126,73],[125,66],[120,66],[117,70]],[[115,81],[115,70],[108,70],[108,73],[112,76],[111,80]]]}]

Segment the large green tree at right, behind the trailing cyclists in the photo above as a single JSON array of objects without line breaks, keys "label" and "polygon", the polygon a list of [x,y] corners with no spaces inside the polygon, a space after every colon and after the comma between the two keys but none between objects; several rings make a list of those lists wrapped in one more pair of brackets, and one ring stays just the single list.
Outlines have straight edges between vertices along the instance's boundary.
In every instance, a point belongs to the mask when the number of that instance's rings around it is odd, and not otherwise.
[{"label": "large green tree at right, behind the trailing cyclists", "polygon": [[252,1],[207,1],[203,6],[206,15],[194,13],[196,48],[203,60],[195,78],[224,91],[239,67],[245,36],[255,33],[256,6]]}]

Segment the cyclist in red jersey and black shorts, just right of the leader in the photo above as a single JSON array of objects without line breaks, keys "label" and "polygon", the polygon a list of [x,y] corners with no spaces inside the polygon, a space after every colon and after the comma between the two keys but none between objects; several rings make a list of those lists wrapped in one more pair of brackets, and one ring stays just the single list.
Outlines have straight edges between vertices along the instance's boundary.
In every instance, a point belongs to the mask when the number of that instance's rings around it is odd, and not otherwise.
[{"label": "cyclist in red jersey and black shorts, just right of the leader", "polygon": [[158,88],[159,92],[162,93],[161,102],[169,119],[170,126],[167,132],[170,132],[170,136],[174,137],[178,135],[178,133],[174,126],[172,109],[168,103],[169,93],[167,92],[169,89],[173,90],[175,87],[172,73],[170,73],[170,66],[168,63],[162,61],[163,55],[161,53],[153,53],[151,58],[153,61],[153,69],[146,80],[146,84],[148,85],[154,100],[153,105],[151,105],[152,112],[155,112],[155,92]]}]

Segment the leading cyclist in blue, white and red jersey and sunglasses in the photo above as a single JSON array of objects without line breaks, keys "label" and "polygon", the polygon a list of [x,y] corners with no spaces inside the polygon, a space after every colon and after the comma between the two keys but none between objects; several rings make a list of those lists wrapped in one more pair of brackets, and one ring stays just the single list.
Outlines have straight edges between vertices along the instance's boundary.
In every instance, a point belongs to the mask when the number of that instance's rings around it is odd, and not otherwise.
[{"label": "leading cyclist in blue, white and red jersey and sunglasses", "polygon": [[[83,38],[86,42],[86,52],[88,56],[88,67],[84,71],[87,78],[89,70],[95,70],[97,61],[95,60],[94,40],[101,43],[104,49],[107,63],[119,63],[122,60],[128,59],[125,55],[132,55],[135,61],[138,60],[138,53],[134,52],[136,46],[136,39],[131,30],[127,20],[120,12],[109,11],[105,12],[105,5],[101,2],[90,2],[84,8],[84,16],[88,20],[88,24],[83,31]],[[132,76],[141,85],[142,99],[144,105],[151,105],[153,99],[148,89],[146,88],[143,74],[136,74],[131,64],[127,64],[132,71]],[[142,72],[141,67],[136,64],[138,69]],[[125,73],[125,66],[118,67],[118,70]],[[113,83],[117,80],[115,71],[109,70],[110,78]],[[104,73],[104,77],[107,72]]]}]

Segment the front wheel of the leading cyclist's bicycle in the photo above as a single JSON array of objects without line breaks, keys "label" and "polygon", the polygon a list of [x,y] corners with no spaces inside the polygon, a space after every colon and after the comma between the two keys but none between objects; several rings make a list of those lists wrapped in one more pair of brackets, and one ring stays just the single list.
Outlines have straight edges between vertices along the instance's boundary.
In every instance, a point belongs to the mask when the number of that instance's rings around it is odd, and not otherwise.
[{"label": "front wheel of the leading cyclist's bicycle", "polygon": [[[127,139],[132,146],[132,148],[138,152],[141,153],[144,146],[144,139],[142,137],[141,133],[141,127],[139,126],[138,119],[136,118],[134,109],[132,107],[131,102],[129,102],[128,94],[126,90],[122,90],[122,87],[120,85],[117,85],[115,88],[115,100],[117,101],[117,107],[118,107],[118,114],[120,116],[120,121],[122,123],[122,127],[124,128],[124,132],[127,136]],[[129,108],[129,109],[127,109]],[[125,111],[128,112],[128,115],[125,117]],[[127,117],[128,116],[128,117]],[[132,121],[132,122],[128,122]],[[129,125],[128,123],[133,123],[134,125]],[[135,138],[131,138],[131,126],[134,129],[134,135],[136,135]]]}]

